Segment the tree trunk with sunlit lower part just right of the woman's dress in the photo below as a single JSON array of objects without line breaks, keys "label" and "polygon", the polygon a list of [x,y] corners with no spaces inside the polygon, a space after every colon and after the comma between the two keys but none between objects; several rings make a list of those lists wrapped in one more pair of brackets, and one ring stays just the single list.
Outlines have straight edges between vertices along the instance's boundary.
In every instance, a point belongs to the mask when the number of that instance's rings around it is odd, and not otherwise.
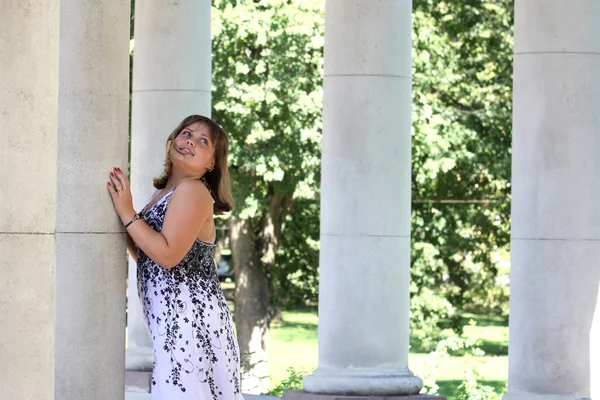
[{"label": "tree trunk with sunlit lower part just right of the woman's dress", "polygon": [[268,389],[269,281],[256,249],[250,220],[231,217],[231,252],[235,273],[235,310],[244,392]]}]

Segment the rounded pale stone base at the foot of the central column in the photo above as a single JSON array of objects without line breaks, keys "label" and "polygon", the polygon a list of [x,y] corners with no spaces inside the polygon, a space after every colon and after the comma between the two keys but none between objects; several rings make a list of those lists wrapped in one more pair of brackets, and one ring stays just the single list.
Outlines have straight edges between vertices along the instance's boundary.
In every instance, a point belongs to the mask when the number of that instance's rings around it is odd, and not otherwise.
[{"label": "rounded pale stone base at the foot of the central column", "polygon": [[302,381],[310,393],[327,393],[345,396],[408,396],[416,395],[423,387],[421,378],[408,368],[317,368]]}]

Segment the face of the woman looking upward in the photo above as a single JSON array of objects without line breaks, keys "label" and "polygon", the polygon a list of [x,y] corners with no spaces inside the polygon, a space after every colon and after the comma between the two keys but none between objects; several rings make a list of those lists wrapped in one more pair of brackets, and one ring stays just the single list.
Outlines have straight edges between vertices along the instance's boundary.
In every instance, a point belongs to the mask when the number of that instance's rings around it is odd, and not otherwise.
[{"label": "face of the woman looking upward", "polygon": [[190,175],[204,175],[215,165],[215,148],[208,127],[195,122],[177,135],[171,150],[174,168],[181,168]]}]

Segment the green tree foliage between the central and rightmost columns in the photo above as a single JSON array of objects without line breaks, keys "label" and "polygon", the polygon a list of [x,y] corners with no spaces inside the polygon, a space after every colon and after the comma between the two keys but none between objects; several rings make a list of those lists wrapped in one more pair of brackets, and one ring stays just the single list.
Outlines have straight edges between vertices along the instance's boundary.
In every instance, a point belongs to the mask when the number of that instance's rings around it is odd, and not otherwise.
[{"label": "green tree foliage between the central and rightmost columns", "polygon": [[506,302],[496,277],[510,239],[513,3],[413,4],[411,292],[433,290],[447,314],[444,299],[489,310]]}]

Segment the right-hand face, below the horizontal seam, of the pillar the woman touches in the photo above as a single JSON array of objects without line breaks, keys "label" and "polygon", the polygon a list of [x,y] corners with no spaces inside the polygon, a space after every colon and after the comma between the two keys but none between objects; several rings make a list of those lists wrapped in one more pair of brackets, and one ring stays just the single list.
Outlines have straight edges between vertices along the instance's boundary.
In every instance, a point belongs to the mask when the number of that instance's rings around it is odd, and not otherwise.
[{"label": "right-hand face, below the horizontal seam, of the pillar the woman touches", "polygon": [[119,399],[124,390],[122,234],[56,234],[56,398]]}]

